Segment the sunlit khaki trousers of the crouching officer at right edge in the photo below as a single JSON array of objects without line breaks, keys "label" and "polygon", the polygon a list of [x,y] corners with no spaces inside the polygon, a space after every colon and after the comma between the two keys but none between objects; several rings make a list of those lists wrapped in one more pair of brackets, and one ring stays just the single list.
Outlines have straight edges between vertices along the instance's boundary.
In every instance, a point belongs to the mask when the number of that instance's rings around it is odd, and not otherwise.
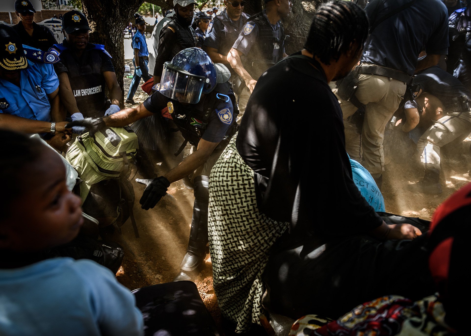
[{"label": "sunlit khaki trousers of the crouching officer at right edge", "polygon": [[440,118],[417,142],[417,150],[421,153],[420,161],[426,164],[426,168],[440,170],[440,147],[452,141],[461,143],[470,133],[471,111],[454,112]]}]

